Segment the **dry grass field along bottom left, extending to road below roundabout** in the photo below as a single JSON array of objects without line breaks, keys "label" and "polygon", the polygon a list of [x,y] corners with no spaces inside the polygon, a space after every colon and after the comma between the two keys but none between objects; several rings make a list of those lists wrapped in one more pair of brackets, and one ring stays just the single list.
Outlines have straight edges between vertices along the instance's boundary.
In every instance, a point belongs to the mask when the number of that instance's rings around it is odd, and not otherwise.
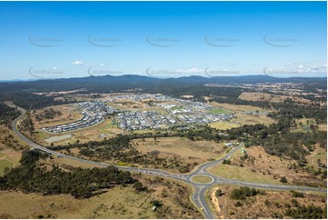
[{"label": "dry grass field along bottom left, extending to road below roundabout", "polygon": [[[2,218],[200,218],[188,201],[187,186],[154,177],[138,177],[152,193],[136,192],[132,186],[116,186],[102,195],[88,199],[75,199],[71,195],[38,195],[0,191]],[[164,193],[163,193],[164,191]],[[180,195],[184,194],[184,196]],[[177,199],[177,196],[179,198]],[[182,199],[181,199],[182,198]],[[163,204],[152,211],[152,200]]]}]

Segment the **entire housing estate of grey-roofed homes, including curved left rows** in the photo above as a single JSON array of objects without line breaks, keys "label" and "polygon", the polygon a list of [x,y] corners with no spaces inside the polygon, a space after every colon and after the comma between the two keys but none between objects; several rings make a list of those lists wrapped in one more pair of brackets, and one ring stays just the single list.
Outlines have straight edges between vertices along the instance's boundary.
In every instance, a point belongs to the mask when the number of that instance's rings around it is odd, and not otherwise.
[{"label": "entire housing estate of grey-roofed homes, including curved left rows", "polygon": [[[106,105],[106,102],[151,100],[152,105],[162,108],[167,114],[156,111],[117,110]],[[170,103],[170,104],[168,104]],[[172,104],[174,103],[174,104]],[[174,98],[166,95],[116,95],[107,96],[105,100],[96,100],[75,104],[83,117],[73,123],[43,128],[52,133],[63,133],[96,125],[104,121],[105,115],[117,113],[115,118],[118,127],[124,130],[142,130],[164,128],[172,125],[201,125],[218,121],[228,121],[234,117],[232,113],[215,113],[213,105]]]}]

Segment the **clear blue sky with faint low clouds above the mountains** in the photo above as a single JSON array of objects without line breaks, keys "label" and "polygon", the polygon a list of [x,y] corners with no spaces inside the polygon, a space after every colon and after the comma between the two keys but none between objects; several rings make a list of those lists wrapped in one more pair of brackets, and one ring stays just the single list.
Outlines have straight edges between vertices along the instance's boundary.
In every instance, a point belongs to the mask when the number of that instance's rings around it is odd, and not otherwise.
[{"label": "clear blue sky with faint low clouds above the mountains", "polygon": [[326,76],[325,2],[0,2],[0,80]]}]

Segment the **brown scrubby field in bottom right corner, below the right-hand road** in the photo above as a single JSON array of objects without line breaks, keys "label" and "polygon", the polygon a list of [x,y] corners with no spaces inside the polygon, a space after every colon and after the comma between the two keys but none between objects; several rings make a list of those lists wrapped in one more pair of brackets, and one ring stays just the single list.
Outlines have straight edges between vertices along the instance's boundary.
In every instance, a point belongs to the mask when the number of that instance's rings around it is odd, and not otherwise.
[{"label": "brown scrubby field in bottom right corner, below the right-hand road", "polygon": [[[265,190],[264,195],[255,195],[239,200],[240,205],[236,205],[237,200],[230,197],[234,189],[240,188],[235,185],[215,185],[206,195],[210,206],[215,210],[217,218],[224,219],[272,219],[274,214],[284,215],[286,205],[293,207],[292,200],[296,200],[299,205],[316,205],[326,209],[326,194],[303,193],[303,197],[293,198],[290,191]],[[221,189],[223,195],[216,196],[215,191]],[[282,218],[282,217],[280,217]],[[283,216],[283,218],[289,218]]]}]

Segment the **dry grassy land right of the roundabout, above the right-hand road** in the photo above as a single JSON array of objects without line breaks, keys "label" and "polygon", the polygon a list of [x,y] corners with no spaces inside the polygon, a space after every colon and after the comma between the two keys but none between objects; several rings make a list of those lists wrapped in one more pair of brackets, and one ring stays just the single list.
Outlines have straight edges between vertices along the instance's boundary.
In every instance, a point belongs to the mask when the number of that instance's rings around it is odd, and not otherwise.
[{"label": "dry grassy land right of the roundabout, above the right-hand road", "polygon": [[[235,179],[243,179],[245,181],[266,182],[279,184],[281,177],[285,176],[288,184],[291,185],[326,185],[325,180],[320,178],[320,175],[313,176],[307,172],[298,170],[297,172],[288,167],[292,164],[297,164],[296,161],[280,158],[275,155],[268,155],[263,147],[252,146],[244,148],[248,157],[253,157],[253,163],[250,160],[242,161],[241,156],[244,155],[241,151],[236,152],[232,158],[232,165],[227,167],[214,167],[210,169],[216,175],[223,175]],[[244,167],[240,164],[243,163]],[[258,181],[257,181],[258,180]]]}]

